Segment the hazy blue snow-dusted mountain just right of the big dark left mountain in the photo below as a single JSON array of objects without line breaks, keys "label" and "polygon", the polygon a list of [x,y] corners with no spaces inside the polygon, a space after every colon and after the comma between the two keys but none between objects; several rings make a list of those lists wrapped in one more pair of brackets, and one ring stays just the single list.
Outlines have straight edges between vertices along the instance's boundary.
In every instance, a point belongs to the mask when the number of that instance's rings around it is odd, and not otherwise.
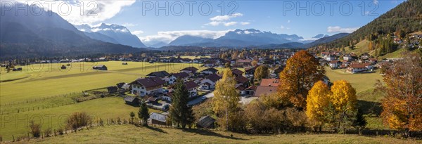
[{"label": "hazy blue snow-dusted mountain just right of the big dark left mountain", "polygon": [[88,37],[91,37],[91,39],[132,46],[134,48],[147,47],[141,42],[141,40],[139,40],[138,37],[122,25],[101,23],[101,25],[93,27],[89,25],[75,25],[75,27],[77,27],[78,30],[85,32],[85,34],[87,34]]}]

